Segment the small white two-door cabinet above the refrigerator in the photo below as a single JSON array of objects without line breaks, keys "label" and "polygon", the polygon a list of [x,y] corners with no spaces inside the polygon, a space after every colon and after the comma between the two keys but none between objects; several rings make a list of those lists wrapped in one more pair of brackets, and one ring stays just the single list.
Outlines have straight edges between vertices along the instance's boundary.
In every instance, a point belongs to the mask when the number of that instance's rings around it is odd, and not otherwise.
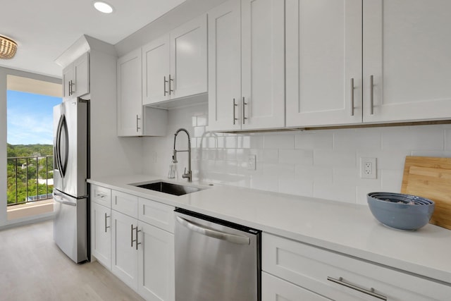
[{"label": "small white two-door cabinet above the refrigerator", "polygon": [[63,69],[63,98],[71,99],[89,93],[89,53]]}]

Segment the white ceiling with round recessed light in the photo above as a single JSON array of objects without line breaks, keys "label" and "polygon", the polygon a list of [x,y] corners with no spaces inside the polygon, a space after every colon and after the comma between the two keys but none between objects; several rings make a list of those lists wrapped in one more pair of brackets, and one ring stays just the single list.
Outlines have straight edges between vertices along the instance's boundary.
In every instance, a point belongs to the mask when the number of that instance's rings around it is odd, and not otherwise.
[{"label": "white ceiling with round recessed light", "polygon": [[61,78],[54,61],[82,35],[116,44],[185,0],[106,0],[115,11],[96,11],[92,0],[2,1],[0,35],[18,51],[0,66]]}]

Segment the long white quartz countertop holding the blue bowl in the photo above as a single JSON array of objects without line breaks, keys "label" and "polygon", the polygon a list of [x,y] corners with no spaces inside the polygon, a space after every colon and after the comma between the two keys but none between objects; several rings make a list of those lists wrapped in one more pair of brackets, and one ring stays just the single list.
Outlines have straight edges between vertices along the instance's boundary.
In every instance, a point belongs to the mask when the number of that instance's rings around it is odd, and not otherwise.
[{"label": "long white quartz countertop holding the blue bowl", "polygon": [[428,224],[417,231],[397,231],[378,223],[364,205],[249,188],[194,183],[207,189],[173,196],[129,185],[159,179],[135,175],[88,182],[451,285],[451,231],[445,228]]}]

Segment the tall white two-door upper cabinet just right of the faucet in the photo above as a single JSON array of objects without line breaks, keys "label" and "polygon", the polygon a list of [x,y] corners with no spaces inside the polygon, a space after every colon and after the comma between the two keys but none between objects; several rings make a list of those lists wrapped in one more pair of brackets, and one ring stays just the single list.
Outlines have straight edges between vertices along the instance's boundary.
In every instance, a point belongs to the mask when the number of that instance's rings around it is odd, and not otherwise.
[{"label": "tall white two-door upper cabinet just right of the faucet", "polygon": [[230,0],[209,12],[210,130],[285,126],[284,2]]}]

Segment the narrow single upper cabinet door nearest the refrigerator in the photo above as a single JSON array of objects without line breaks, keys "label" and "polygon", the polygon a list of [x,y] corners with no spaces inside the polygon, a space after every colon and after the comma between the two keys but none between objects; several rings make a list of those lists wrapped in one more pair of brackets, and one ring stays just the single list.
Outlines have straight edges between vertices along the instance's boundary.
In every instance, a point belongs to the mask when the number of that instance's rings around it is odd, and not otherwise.
[{"label": "narrow single upper cabinet door nearest the refrigerator", "polygon": [[118,59],[118,136],[142,135],[141,49]]}]

